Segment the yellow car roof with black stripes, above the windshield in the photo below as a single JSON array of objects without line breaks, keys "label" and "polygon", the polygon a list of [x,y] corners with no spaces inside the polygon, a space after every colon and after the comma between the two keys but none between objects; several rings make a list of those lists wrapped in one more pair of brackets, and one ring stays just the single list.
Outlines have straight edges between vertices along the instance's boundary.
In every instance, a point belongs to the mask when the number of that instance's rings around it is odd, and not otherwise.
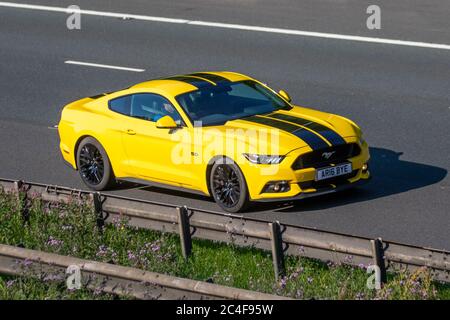
[{"label": "yellow car roof with black stripes, above the windshield", "polygon": [[130,89],[157,90],[176,96],[208,86],[250,79],[252,78],[230,71],[195,72],[141,82],[132,86]]}]

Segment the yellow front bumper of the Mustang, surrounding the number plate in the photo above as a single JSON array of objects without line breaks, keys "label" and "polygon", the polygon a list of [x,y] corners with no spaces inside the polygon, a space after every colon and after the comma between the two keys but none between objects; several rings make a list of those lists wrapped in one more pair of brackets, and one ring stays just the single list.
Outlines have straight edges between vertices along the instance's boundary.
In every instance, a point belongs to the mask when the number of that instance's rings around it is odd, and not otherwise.
[{"label": "yellow front bumper of the Mustang, surrounding the number plate", "polygon": [[[361,145],[356,137],[345,138],[345,140],[348,144],[357,143],[361,149],[361,152],[357,156],[347,158],[344,161],[352,164],[353,171],[348,176],[316,182],[315,168],[293,169],[293,164],[299,156],[311,152],[309,148],[297,149],[287,154],[286,158],[278,165],[277,170],[273,173],[270,173],[270,171],[267,173],[261,170],[271,169],[271,165],[266,166],[266,168],[263,168],[261,165],[244,165],[245,167],[242,168],[242,171],[247,181],[250,199],[261,202],[303,199],[366,183],[370,179],[370,172],[363,170],[363,166],[370,159],[369,146],[365,142]],[[265,186],[274,181],[287,181],[290,187],[289,190],[284,192],[264,192]]]}]

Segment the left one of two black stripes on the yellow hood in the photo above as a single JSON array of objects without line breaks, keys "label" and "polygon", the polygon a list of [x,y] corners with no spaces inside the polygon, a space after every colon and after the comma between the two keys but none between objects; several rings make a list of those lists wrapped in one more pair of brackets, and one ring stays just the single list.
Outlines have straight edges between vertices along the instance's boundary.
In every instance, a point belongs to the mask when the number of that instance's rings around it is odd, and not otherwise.
[{"label": "left one of two black stripes on the yellow hood", "polygon": [[251,116],[242,120],[264,124],[266,126],[289,132],[305,141],[313,150],[319,150],[329,147],[329,145],[317,134],[294,124],[258,116]]}]

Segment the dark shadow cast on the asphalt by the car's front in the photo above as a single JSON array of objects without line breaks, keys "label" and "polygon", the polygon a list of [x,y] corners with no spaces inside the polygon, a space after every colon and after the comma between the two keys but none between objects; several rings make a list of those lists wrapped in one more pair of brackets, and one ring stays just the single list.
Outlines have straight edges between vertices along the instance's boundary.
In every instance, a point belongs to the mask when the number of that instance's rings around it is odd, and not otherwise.
[{"label": "dark shadow cast on the asphalt by the car's front", "polygon": [[401,160],[402,154],[384,148],[370,148],[372,179],[368,184],[303,200],[256,203],[251,211],[301,212],[328,209],[419,189],[438,183],[447,175],[444,168]]}]

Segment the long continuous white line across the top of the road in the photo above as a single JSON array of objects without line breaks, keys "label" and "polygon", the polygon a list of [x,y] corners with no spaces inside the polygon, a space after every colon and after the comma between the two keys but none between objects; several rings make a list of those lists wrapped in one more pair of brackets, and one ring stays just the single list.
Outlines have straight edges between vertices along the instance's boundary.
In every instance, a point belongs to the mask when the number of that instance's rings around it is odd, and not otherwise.
[{"label": "long continuous white line across the top of the road", "polygon": [[[21,3],[2,2],[2,1],[0,1],[0,7],[63,12],[66,14],[74,12],[73,10],[71,11],[68,8],[62,8],[62,7],[41,6],[41,5],[21,4]],[[85,15],[111,17],[111,18],[136,19],[136,20],[153,21],[153,22],[189,24],[189,25],[195,25],[195,26],[278,33],[278,34],[296,35],[296,36],[304,36],[304,37],[315,37],[315,38],[325,38],[325,39],[348,40],[348,41],[359,41],[359,42],[369,42],[369,43],[391,44],[391,45],[398,45],[398,46],[410,46],[410,47],[419,47],[419,48],[450,50],[450,45],[440,44],[440,43],[405,41],[405,40],[395,40],[395,39],[385,39],[385,38],[372,38],[372,37],[362,37],[362,36],[353,36],[353,35],[336,34],[336,33],[312,32],[312,31],[283,29],[283,28],[268,28],[268,27],[250,26],[250,25],[242,25],[242,24],[196,21],[196,20],[187,20],[187,19],[173,19],[173,18],[165,18],[165,17],[145,16],[145,15],[136,15],[136,14],[128,14],[128,13],[116,13],[116,12],[103,12],[103,11],[84,10],[84,9],[79,10],[79,12],[81,14],[85,14]]]}]

